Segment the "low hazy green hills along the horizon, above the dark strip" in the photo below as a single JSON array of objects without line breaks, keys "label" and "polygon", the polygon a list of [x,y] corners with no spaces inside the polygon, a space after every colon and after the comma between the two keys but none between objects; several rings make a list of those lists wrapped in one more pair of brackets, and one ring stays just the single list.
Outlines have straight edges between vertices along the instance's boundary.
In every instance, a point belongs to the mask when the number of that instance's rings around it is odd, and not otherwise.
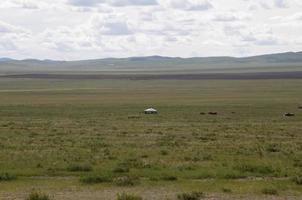
[{"label": "low hazy green hills along the horizon, above the dark strip", "polygon": [[79,61],[0,58],[0,73],[203,73],[302,71],[302,52],[236,57],[129,57]]}]

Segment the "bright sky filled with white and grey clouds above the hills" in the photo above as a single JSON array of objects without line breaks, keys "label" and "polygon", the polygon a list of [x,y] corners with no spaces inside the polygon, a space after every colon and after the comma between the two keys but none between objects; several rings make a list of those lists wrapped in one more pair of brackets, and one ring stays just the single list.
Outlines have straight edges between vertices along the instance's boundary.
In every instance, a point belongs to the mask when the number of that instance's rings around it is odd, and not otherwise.
[{"label": "bright sky filled with white and grey clouds above the hills", "polygon": [[0,58],[302,51],[302,0],[1,0]]}]

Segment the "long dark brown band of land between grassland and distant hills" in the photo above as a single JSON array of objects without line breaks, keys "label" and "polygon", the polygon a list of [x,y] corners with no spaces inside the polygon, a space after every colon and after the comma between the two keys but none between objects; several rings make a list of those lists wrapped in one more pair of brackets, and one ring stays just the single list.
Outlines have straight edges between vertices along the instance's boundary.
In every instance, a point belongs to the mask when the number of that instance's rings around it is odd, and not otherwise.
[{"label": "long dark brown band of land between grassland and distant hills", "polygon": [[253,79],[302,79],[298,72],[259,72],[259,73],[202,73],[202,74],[17,74],[0,78],[37,79],[116,79],[116,80],[253,80]]}]

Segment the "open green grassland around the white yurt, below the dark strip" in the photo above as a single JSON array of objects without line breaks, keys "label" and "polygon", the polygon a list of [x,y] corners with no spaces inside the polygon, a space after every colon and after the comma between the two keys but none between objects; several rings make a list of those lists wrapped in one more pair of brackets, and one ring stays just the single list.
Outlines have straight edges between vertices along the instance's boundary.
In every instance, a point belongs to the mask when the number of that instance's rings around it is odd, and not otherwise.
[{"label": "open green grassland around the white yurt, below the dark strip", "polygon": [[301,199],[299,106],[302,80],[0,79],[0,199]]}]

